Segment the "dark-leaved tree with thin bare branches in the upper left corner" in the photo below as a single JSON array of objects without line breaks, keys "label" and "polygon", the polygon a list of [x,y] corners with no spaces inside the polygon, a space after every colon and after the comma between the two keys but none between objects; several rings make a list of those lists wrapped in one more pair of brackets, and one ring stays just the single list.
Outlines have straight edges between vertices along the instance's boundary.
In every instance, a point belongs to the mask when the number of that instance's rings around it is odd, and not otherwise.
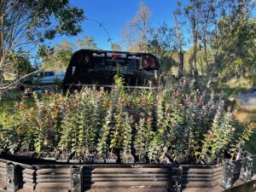
[{"label": "dark-leaved tree with thin bare branches in the upper left corner", "polygon": [[68,0],[1,0],[0,69],[16,49],[34,49],[56,34],[73,36],[81,32],[83,10],[70,6]]}]

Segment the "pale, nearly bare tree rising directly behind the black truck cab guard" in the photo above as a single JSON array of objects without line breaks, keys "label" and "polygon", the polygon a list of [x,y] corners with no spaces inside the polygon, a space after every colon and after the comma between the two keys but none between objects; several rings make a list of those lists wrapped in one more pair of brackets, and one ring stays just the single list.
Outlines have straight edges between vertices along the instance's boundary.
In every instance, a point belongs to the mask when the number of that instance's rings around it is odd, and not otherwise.
[{"label": "pale, nearly bare tree rising directly behind the black truck cab guard", "polygon": [[128,50],[135,52],[146,51],[150,15],[147,5],[145,3],[140,3],[137,15],[127,22],[122,31],[122,36],[125,39],[125,44]]}]

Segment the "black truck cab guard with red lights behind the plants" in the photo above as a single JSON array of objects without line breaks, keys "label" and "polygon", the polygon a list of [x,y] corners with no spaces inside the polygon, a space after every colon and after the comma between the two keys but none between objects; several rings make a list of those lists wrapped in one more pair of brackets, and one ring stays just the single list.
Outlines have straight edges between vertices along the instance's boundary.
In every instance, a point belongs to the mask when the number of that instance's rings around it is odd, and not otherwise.
[{"label": "black truck cab guard with red lights behind the plants", "polygon": [[111,87],[119,74],[129,88],[157,87],[160,62],[152,54],[122,51],[80,49],[71,58],[63,90],[79,90],[83,86]]}]

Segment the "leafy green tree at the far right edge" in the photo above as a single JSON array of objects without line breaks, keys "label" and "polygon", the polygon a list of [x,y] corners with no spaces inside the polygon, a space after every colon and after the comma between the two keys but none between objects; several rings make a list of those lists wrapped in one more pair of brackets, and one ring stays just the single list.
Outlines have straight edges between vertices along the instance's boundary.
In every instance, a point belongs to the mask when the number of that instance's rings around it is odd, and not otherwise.
[{"label": "leafy green tree at the far right edge", "polygon": [[256,19],[249,17],[251,8],[247,3],[239,3],[232,9],[231,15],[218,21],[218,33],[212,39],[216,72],[225,80],[248,76],[256,68]]}]

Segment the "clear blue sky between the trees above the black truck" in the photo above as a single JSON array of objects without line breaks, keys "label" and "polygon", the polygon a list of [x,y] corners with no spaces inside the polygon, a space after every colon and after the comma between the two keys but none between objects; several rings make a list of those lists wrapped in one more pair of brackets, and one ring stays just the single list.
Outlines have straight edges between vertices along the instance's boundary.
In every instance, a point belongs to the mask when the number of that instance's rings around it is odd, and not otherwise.
[{"label": "clear blue sky between the trees above the black truck", "polygon": [[[84,15],[93,20],[98,20],[107,28],[114,43],[121,40],[120,31],[128,20],[131,20],[139,9],[139,3],[146,3],[151,11],[150,26],[159,26],[166,21],[170,26],[174,26],[173,11],[177,7],[176,0],[70,0],[72,5],[84,9]],[[183,4],[187,0],[181,0]],[[77,37],[61,37],[51,42],[51,45],[60,43],[65,39],[75,43],[75,39],[82,38],[83,35],[93,36],[96,44],[101,49],[110,49],[108,36],[95,22],[84,20],[82,23],[83,32]]]}]

